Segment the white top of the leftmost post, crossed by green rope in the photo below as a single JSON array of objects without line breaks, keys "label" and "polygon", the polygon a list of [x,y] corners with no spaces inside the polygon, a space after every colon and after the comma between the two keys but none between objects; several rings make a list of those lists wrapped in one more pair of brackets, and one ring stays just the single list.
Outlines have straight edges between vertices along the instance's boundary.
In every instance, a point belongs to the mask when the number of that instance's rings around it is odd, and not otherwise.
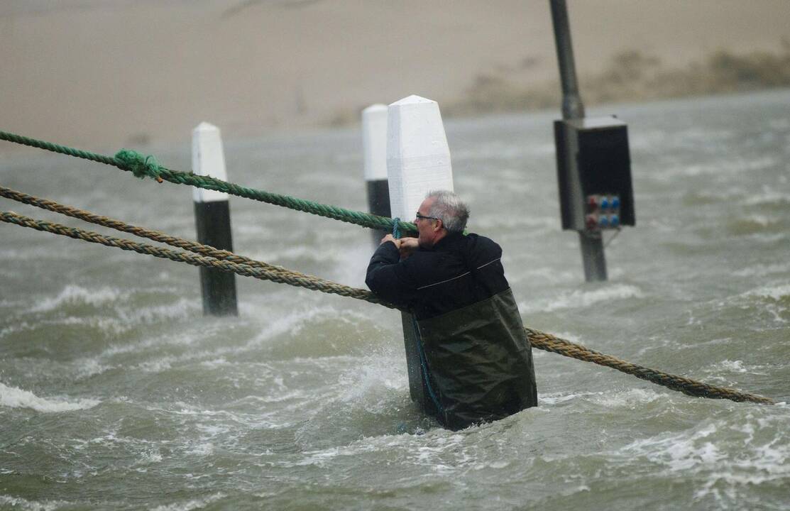
[{"label": "white top of the leftmost post, crossed by green rope", "polygon": [[[208,122],[201,122],[192,130],[192,172],[228,181],[220,129]],[[192,197],[195,202],[228,200],[228,194],[224,192],[205,190],[197,186],[193,188]]]}]

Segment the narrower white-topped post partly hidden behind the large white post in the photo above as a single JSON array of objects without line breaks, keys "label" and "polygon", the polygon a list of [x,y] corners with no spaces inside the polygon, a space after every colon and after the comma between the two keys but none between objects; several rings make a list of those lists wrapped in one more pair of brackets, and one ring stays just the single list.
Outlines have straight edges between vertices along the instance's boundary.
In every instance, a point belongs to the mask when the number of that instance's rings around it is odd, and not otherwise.
[{"label": "narrower white-topped post partly hidden behind the large white post", "polygon": [[[374,104],[362,111],[362,145],[367,184],[367,211],[389,216],[387,184],[387,106]],[[386,231],[373,231],[374,246]]]}]

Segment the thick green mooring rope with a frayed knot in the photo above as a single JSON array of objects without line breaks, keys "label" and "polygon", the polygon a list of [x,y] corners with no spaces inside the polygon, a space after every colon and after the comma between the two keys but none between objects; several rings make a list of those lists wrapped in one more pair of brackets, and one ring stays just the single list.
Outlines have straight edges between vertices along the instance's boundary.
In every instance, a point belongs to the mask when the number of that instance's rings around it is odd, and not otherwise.
[{"label": "thick green mooring rope with a frayed knot", "polygon": [[[16,133],[7,133],[5,131],[0,131],[0,140],[13,142],[14,144],[28,145],[51,152],[58,152],[59,154],[91,160],[97,163],[104,163],[105,165],[118,167],[122,171],[132,172],[138,178],[145,178],[147,176],[156,179],[157,182],[162,182],[164,180],[181,185],[198,186],[198,188],[205,188],[205,190],[218,190],[237,197],[245,197],[255,201],[265,202],[266,204],[278,205],[284,208],[308,212],[313,215],[325,216],[326,218],[332,218],[362,227],[370,227],[371,229],[391,231],[393,228],[393,219],[386,216],[378,216],[371,213],[339,208],[333,205],[320,204],[318,202],[307,201],[288,195],[274,194],[265,190],[256,190],[210,176],[195,175],[191,172],[173,171],[167,167],[160,166],[153,156],[143,156],[130,149],[121,149],[115,154],[115,157],[104,156],[96,154],[95,152],[70,148],[65,145],[40,141],[35,138],[23,137]],[[399,221],[397,225],[402,232],[417,231],[417,228],[411,222]]]}]

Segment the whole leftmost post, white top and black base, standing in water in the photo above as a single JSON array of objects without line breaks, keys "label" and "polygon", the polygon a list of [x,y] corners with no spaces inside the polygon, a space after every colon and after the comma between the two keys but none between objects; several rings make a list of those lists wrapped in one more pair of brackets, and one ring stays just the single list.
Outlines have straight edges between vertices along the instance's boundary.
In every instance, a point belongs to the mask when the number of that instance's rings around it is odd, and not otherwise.
[{"label": "whole leftmost post, white top and black base, standing in water", "polygon": [[[201,122],[192,131],[192,172],[195,175],[228,180],[220,129],[208,122]],[[198,242],[232,251],[231,209],[228,194],[195,187],[193,199]],[[235,275],[201,266],[200,276],[203,314],[238,315]]]}]

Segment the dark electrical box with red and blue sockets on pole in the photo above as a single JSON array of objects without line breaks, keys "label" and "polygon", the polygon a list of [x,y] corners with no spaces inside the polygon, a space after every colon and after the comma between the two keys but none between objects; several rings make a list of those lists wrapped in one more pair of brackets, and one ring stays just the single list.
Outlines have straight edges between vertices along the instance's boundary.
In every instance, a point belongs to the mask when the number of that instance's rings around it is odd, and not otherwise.
[{"label": "dark electrical box with red and blue sockets on pole", "polygon": [[615,117],[554,122],[562,228],[634,225],[628,126]]}]

